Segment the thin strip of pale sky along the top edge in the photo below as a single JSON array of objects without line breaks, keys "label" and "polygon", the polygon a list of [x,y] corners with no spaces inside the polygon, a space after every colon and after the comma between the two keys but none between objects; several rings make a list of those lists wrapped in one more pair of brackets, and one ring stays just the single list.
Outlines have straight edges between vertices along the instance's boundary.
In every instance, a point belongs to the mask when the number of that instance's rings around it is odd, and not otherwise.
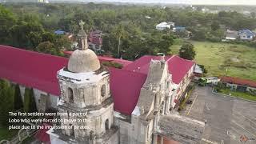
[{"label": "thin strip of pale sky along the top edge", "polygon": [[84,0],[88,2],[184,3],[202,5],[256,5],[256,0]]}]

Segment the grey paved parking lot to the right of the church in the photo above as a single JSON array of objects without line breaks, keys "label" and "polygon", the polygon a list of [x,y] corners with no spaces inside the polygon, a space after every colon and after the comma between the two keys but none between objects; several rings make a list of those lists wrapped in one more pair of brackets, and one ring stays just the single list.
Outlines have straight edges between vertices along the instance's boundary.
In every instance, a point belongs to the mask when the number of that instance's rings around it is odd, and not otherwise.
[{"label": "grey paved parking lot to the right of the church", "polygon": [[[256,102],[211,93],[210,87],[196,87],[193,104],[182,114],[205,122],[202,143],[256,144]],[[240,142],[240,137],[254,138]]]}]

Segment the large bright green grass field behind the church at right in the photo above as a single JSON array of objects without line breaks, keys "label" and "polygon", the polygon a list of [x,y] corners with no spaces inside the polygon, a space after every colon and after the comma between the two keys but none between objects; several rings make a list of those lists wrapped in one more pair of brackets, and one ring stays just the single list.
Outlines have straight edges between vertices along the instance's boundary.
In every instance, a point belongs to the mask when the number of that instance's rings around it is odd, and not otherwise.
[{"label": "large bright green grass field behind the church at right", "polygon": [[[208,70],[206,76],[227,74],[256,81],[256,48],[224,42],[190,42],[197,53],[195,61]],[[175,40],[172,54],[178,54],[181,45],[182,40]]]}]

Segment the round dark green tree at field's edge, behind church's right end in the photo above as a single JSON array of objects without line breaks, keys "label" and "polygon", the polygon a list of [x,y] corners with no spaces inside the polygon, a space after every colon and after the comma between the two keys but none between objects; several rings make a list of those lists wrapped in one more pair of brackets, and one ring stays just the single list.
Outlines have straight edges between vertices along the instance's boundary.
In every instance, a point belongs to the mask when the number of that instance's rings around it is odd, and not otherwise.
[{"label": "round dark green tree at field's edge, behind church's right end", "polygon": [[189,42],[185,42],[179,50],[179,56],[181,58],[193,60],[195,55],[194,45]]}]

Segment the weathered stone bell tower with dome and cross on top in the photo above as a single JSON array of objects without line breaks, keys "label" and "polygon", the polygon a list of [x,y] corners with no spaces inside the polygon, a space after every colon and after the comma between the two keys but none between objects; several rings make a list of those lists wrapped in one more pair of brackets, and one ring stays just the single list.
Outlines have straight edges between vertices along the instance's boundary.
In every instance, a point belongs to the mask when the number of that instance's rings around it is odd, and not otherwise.
[{"label": "weathered stone bell tower with dome and cross on top", "polygon": [[54,131],[59,140],[66,139],[67,143],[70,139],[74,143],[118,143],[110,73],[94,51],[88,49],[83,22],[79,24],[79,49],[71,54],[68,66],[57,75],[61,90],[58,111],[63,114],[59,118],[63,129]]}]

